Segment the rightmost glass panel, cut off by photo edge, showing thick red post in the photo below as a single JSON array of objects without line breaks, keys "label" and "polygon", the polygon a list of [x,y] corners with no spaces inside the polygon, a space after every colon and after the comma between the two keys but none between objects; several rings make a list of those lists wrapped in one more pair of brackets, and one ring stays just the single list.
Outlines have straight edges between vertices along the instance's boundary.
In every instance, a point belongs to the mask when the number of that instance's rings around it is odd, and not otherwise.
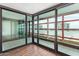
[{"label": "rightmost glass panel, cut off by photo edge, showing thick red post", "polygon": [[58,9],[58,51],[79,55],[79,4]]}]

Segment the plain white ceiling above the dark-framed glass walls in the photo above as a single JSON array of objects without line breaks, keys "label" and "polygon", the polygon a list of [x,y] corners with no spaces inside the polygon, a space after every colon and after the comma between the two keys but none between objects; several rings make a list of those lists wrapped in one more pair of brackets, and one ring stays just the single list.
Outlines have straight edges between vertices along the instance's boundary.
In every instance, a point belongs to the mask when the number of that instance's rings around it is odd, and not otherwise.
[{"label": "plain white ceiling above the dark-framed glass walls", "polygon": [[0,5],[11,7],[26,13],[34,14],[58,3],[0,3]]}]

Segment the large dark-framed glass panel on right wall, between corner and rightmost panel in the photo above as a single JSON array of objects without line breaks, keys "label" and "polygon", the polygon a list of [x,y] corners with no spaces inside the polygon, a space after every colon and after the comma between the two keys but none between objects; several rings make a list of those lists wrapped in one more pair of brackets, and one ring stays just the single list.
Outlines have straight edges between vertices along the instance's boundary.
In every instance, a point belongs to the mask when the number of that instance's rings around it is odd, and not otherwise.
[{"label": "large dark-framed glass panel on right wall, between corner and rightmost panel", "polygon": [[55,10],[39,15],[39,44],[54,49]]}]

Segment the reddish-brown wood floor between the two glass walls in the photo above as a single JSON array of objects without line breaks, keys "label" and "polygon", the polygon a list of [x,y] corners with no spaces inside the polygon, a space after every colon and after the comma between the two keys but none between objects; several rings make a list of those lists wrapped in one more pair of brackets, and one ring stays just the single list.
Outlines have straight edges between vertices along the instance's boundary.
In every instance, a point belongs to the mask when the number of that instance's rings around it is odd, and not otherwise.
[{"label": "reddish-brown wood floor between the two glass walls", "polygon": [[0,53],[0,56],[56,56],[54,52],[50,52],[40,46],[30,44],[5,53]]}]

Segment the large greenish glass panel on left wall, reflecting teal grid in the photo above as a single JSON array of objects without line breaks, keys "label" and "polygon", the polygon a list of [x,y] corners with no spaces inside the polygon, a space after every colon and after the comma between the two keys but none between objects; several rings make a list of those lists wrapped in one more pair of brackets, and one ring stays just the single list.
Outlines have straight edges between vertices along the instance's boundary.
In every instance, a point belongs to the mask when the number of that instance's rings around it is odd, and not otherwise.
[{"label": "large greenish glass panel on left wall, reflecting teal grid", "polygon": [[25,44],[25,15],[2,9],[2,51]]}]

